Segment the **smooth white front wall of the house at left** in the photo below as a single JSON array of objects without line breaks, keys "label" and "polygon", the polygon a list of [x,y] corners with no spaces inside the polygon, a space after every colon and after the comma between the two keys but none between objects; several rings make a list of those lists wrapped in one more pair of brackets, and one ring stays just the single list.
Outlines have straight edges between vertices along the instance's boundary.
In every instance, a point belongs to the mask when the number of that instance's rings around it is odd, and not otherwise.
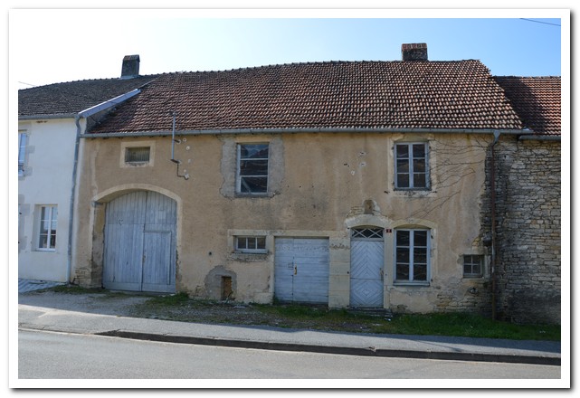
[{"label": "smooth white front wall of the house at left", "polygon": [[[18,177],[18,278],[65,282],[77,128],[73,118],[62,118],[20,121],[18,130],[27,137],[24,173]],[[53,250],[39,249],[44,205],[57,207]]]}]

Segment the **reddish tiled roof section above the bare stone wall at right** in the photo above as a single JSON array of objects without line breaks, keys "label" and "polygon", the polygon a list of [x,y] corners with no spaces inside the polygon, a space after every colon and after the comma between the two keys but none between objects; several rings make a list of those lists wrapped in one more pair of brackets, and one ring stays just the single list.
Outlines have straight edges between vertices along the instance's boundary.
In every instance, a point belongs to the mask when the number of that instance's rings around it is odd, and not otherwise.
[{"label": "reddish tiled roof section above the bare stone wall at right", "polygon": [[496,76],[524,127],[536,134],[561,134],[560,77]]}]

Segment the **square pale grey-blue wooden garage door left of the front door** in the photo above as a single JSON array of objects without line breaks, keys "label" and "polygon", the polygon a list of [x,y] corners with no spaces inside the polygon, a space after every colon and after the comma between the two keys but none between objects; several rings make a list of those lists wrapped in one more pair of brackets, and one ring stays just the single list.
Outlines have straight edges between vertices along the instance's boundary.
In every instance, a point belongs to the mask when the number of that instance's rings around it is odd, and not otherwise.
[{"label": "square pale grey-blue wooden garage door left of the front door", "polygon": [[275,246],[276,298],[328,304],[328,239],[276,238]]}]

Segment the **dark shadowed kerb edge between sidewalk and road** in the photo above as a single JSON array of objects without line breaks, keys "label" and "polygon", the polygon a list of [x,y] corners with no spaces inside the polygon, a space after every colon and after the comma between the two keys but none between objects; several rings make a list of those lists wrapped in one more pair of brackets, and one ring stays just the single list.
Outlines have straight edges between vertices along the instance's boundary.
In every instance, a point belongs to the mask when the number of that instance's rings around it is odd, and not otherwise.
[{"label": "dark shadowed kerb edge between sidewalk and road", "polygon": [[223,339],[217,337],[157,335],[152,333],[131,332],[127,330],[109,330],[107,332],[94,333],[94,335],[157,341],[164,343],[194,344],[200,346],[228,346],[235,348],[266,349],[272,351],[298,351],[319,354],[360,355],[391,358],[441,359],[447,361],[500,362],[508,364],[528,365],[561,365],[561,358],[547,355],[499,355],[468,352],[414,351],[384,349],[376,348],[373,346],[312,346],[292,343],[272,343],[265,341]]}]

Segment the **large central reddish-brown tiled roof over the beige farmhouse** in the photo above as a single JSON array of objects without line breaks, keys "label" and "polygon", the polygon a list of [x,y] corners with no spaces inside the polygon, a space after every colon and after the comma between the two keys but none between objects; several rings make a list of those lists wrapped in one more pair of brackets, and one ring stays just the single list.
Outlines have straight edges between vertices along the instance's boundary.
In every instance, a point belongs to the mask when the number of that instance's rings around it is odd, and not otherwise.
[{"label": "large central reddish-brown tiled roof over the beige farmhouse", "polygon": [[91,133],[521,128],[479,61],[313,62],[159,75]]}]

